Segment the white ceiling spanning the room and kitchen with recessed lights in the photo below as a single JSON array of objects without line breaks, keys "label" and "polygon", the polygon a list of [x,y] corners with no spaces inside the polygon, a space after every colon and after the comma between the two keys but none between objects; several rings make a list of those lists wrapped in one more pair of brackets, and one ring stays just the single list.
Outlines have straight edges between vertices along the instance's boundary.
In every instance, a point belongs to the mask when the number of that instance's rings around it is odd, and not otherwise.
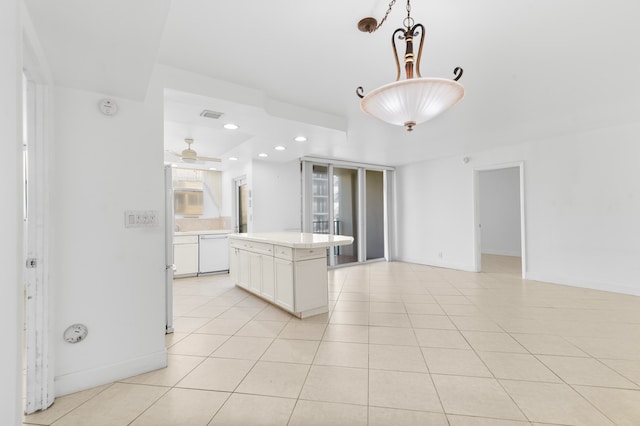
[{"label": "white ceiling spanning the room and kitchen with recessed lights", "polygon": [[[303,155],[399,165],[494,146],[637,122],[637,0],[414,0],[426,27],[422,74],[460,82],[465,99],[412,133],[364,116],[355,95],[395,79],[391,34],[398,2],[374,34],[380,0],[25,0],[58,83],[140,99],[154,65],[260,91],[265,98],[338,117],[318,125],[215,94],[167,91],[165,145],[193,137],[201,155],[286,161]],[[201,119],[204,108],[225,112]],[[271,111],[270,111],[271,112]],[[238,131],[221,129],[226,121]],[[337,120],[336,122],[339,122]],[[309,141],[292,138],[305,133]],[[283,144],[284,152],[273,147]]]}]

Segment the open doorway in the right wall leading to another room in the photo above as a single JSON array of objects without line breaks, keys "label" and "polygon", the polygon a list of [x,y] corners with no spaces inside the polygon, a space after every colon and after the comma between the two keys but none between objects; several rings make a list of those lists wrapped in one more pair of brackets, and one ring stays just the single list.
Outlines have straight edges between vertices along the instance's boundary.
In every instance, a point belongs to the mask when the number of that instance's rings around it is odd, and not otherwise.
[{"label": "open doorway in the right wall leading to another room", "polygon": [[523,163],[474,170],[476,271],[526,278]]}]

